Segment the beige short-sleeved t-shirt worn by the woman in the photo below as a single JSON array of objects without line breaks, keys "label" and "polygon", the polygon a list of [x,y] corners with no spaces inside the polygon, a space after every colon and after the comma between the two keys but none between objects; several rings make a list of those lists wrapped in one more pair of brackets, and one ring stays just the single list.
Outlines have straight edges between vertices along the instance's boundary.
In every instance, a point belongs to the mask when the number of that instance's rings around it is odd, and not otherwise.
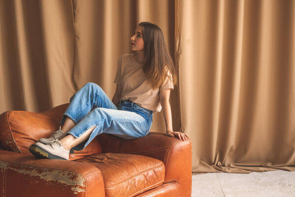
[{"label": "beige short-sleeved t-shirt worn by the woman", "polygon": [[[167,71],[172,78],[172,75]],[[120,100],[131,100],[139,106],[160,112],[160,90],[172,89],[173,83],[167,76],[163,85],[158,89],[153,89],[148,83],[143,71],[143,64],[135,61],[134,54],[124,54],[118,59],[118,69],[114,83],[121,85]]]}]

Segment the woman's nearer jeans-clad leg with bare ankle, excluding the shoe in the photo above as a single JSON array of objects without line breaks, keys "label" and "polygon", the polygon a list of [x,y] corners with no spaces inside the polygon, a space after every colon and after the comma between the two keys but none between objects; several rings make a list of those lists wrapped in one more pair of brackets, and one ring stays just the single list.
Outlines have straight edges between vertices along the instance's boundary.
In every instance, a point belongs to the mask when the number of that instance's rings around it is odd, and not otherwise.
[{"label": "woman's nearer jeans-clad leg with bare ankle, excluding the shoe", "polygon": [[102,132],[124,139],[143,137],[148,133],[151,122],[152,116],[148,114],[142,116],[131,111],[97,107],[72,128],[60,142],[66,150],[71,148],[82,150]]}]

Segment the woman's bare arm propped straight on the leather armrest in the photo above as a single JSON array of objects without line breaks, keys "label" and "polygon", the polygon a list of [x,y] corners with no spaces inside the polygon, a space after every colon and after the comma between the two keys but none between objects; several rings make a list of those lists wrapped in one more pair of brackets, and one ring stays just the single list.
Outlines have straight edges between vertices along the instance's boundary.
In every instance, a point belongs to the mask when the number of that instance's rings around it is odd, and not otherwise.
[{"label": "woman's bare arm propped straight on the leather armrest", "polygon": [[173,131],[172,129],[172,114],[171,106],[169,103],[170,91],[170,89],[160,90],[160,102],[163,109],[163,115],[166,124],[166,134],[171,137],[174,137],[174,135],[178,135],[179,139],[185,140],[187,137],[185,133]]}]

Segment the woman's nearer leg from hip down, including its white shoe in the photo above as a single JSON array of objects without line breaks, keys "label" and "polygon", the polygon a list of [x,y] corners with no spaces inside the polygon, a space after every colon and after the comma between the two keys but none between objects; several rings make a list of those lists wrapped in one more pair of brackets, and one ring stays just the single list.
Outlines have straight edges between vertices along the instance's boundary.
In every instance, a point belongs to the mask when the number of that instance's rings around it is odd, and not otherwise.
[{"label": "woman's nearer leg from hip down, including its white shoe", "polygon": [[97,107],[68,131],[68,135],[64,138],[46,145],[37,142],[30,150],[37,157],[68,160],[71,148],[84,149],[96,135],[102,132],[124,139],[134,139],[145,136],[151,123],[152,115]]}]

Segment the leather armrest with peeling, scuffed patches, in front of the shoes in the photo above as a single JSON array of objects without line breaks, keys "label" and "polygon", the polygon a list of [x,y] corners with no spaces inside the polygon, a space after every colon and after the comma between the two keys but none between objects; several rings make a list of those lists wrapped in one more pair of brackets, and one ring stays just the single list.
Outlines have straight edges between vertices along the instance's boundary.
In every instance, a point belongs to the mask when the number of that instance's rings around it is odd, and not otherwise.
[{"label": "leather armrest with peeling, scuffed patches, in front of the shoes", "polygon": [[6,197],[105,196],[100,170],[82,162],[0,150],[0,179],[0,196]]}]

